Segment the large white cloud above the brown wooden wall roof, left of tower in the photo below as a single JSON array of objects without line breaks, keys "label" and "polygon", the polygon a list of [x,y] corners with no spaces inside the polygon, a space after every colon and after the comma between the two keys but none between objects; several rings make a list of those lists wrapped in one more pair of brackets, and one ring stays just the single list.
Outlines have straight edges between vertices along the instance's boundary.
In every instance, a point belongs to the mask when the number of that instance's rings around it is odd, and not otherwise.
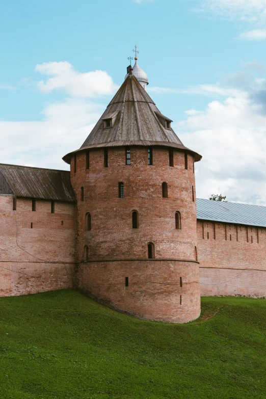
[{"label": "large white cloud above the brown wooden wall roof, left of tower", "polygon": [[2,163],[68,169],[62,156],[78,149],[105,106],[67,98],[48,104],[42,121],[0,121]]}]

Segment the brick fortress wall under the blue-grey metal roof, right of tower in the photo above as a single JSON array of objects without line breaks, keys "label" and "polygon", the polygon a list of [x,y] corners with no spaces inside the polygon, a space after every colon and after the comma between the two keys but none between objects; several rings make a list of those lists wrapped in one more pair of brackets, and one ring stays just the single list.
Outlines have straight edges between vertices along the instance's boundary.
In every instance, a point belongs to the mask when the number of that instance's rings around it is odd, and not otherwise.
[{"label": "brick fortress wall under the blue-grey metal roof, right of tower", "polygon": [[201,296],[266,296],[266,229],[198,220]]}]

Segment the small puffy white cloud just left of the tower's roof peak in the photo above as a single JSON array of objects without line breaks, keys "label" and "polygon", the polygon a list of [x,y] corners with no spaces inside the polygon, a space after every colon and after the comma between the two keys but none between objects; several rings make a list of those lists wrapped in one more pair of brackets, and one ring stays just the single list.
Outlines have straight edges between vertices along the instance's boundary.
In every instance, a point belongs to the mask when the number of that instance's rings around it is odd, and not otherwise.
[{"label": "small puffy white cloud just left of the tower's roof peak", "polygon": [[117,89],[113,79],[105,71],[81,73],[67,61],[45,62],[36,66],[36,71],[52,76],[37,84],[42,93],[59,90],[73,97],[98,97],[113,94]]}]

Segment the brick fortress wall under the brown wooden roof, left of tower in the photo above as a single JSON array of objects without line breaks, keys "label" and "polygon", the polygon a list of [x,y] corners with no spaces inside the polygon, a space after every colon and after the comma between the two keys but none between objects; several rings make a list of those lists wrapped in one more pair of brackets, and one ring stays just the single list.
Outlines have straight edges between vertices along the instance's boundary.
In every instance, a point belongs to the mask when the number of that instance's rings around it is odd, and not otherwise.
[{"label": "brick fortress wall under the brown wooden roof, left of tower", "polygon": [[0,225],[0,296],[73,286],[75,204],[0,195]]}]

